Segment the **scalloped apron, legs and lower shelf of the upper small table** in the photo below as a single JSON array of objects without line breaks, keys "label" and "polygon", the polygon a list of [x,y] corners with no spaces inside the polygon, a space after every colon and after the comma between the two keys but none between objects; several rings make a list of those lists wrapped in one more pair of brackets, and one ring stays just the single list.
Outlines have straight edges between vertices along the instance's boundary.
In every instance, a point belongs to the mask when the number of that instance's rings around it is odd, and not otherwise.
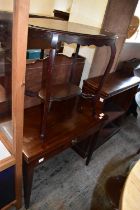
[{"label": "scalloped apron, legs and lower shelf of the upper small table", "polygon": [[[34,21],[33,21],[34,22]],[[39,22],[40,23],[40,22]],[[45,22],[46,23],[46,22]],[[40,25],[39,25],[40,26]],[[40,28],[39,28],[40,30]],[[47,72],[44,73],[44,75],[46,76],[46,83],[44,84],[44,90],[40,92],[40,96],[44,101],[44,112],[43,112],[43,117],[42,117],[42,126],[41,126],[41,137],[43,139],[46,138],[46,127],[47,127],[47,115],[50,109],[50,105],[51,102],[53,100],[66,100],[68,98],[71,98],[73,96],[76,96],[78,94],[80,94],[80,89],[77,87],[73,87],[72,84],[72,75],[73,72],[76,71],[75,69],[75,63],[76,63],[76,58],[78,57],[78,52],[80,49],[80,46],[90,46],[90,45],[96,45],[98,47],[102,47],[104,45],[106,46],[110,46],[111,48],[111,56],[110,56],[110,60],[108,63],[108,66],[105,70],[104,73],[104,77],[102,77],[101,82],[99,83],[99,87],[96,93],[96,97],[94,100],[94,104],[95,104],[95,108],[96,108],[96,103],[99,104],[99,99],[100,99],[100,89],[103,86],[103,83],[105,81],[106,76],[108,75],[114,58],[115,58],[115,38],[114,37],[108,37],[108,36],[103,36],[103,35],[84,35],[84,34],[76,34],[74,32],[68,33],[68,32],[52,32],[52,29],[48,30],[46,29],[45,31],[48,33],[44,34],[44,38],[46,37],[46,40],[48,41],[48,43],[50,42],[51,45],[51,50],[50,50],[50,54],[48,57],[48,63],[46,62],[46,60],[44,60],[44,66],[43,66],[43,71]],[[44,33],[44,31],[43,31]],[[71,74],[70,74],[70,80],[67,83],[67,86],[65,84],[65,91],[62,91],[62,88],[57,88],[57,91],[55,91],[55,97],[52,97],[52,91],[54,90],[53,86],[52,86],[52,72],[53,72],[53,67],[54,67],[54,63],[55,63],[55,56],[56,56],[56,50],[58,49],[59,43],[67,43],[67,44],[72,44],[72,43],[76,43],[77,47],[76,47],[76,52],[73,56],[73,64],[72,64],[72,69],[71,69]],[[47,63],[47,65],[46,65]],[[61,86],[62,87],[62,86]],[[60,93],[59,93],[60,90]],[[75,92],[74,92],[75,91]],[[62,95],[62,93],[64,93]],[[60,98],[61,96],[61,98]],[[96,102],[98,101],[98,102]],[[98,105],[99,106],[99,105]],[[100,114],[100,113],[98,113]]]}]

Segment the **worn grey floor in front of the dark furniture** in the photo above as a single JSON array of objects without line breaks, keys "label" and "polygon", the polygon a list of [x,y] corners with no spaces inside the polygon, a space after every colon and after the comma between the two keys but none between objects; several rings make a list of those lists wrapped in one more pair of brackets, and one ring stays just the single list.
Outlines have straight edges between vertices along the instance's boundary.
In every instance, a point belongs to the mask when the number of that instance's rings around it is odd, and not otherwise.
[{"label": "worn grey floor in front of the dark furniture", "polygon": [[[110,210],[106,179],[125,174],[140,148],[140,112],[93,153],[89,166],[68,149],[35,171],[29,210]],[[24,210],[24,207],[20,210]]]}]

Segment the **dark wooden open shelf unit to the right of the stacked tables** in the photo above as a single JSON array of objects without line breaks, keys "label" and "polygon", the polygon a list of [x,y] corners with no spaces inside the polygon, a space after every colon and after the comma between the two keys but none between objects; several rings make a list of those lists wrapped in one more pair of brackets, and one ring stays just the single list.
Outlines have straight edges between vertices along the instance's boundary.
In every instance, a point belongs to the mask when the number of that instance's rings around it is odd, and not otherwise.
[{"label": "dark wooden open shelf unit to the right of the stacked tables", "polygon": [[[96,94],[100,80],[101,76],[85,80],[82,91],[89,96]],[[127,76],[123,72],[113,72],[108,75],[100,92],[103,99],[100,112],[107,114],[108,119],[102,130],[100,130],[94,150],[119,131],[124,115],[127,113],[137,92],[139,83],[139,77]],[[85,148],[85,143],[79,143],[74,149],[81,154],[86,154]]]}]

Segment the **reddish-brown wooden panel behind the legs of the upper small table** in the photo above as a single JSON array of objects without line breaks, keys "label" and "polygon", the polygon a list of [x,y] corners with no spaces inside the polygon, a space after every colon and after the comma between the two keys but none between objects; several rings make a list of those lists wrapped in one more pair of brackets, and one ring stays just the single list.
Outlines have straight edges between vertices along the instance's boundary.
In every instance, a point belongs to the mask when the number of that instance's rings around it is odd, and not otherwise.
[{"label": "reddish-brown wooden panel behind the legs of the upper small table", "polygon": [[[63,86],[64,89],[62,91],[65,90],[66,85],[64,84],[69,81],[72,61],[73,61],[72,57],[68,57],[63,54],[58,54],[56,56],[54,69],[52,72],[52,83],[55,86],[54,87],[55,92],[57,91],[57,87],[61,88]],[[76,85],[79,86],[80,84],[84,63],[85,63],[85,58],[81,56],[76,58],[75,62],[76,71],[74,72],[72,78],[72,82],[75,86]],[[38,105],[41,102],[41,100],[38,98],[38,92],[41,90],[42,79],[44,81],[44,77],[42,78],[42,69],[43,69],[43,60],[32,60],[32,61],[27,60],[26,78],[25,78],[25,89],[26,89],[25,108]],[[79,88],[76,89],[79,92],[80,89]],[[68,91],[69,88],[67,88],[67,92]],[[29,95],[34,97],[30,97]],[[58,96],[58,94],[56,95]],[[65,95],[69,94],[67,93]]]}]

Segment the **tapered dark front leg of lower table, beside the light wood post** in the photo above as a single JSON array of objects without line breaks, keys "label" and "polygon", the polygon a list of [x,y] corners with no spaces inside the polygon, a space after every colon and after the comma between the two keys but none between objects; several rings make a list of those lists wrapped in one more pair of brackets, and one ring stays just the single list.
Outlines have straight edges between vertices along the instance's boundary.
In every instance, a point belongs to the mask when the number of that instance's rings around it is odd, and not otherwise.
[{"label": "tapered dark front leg of lower table, beside the light wood post", "polygon": [[29,208],[33,182],[34,166],[23,162],[23,187],[25,208]]}]

